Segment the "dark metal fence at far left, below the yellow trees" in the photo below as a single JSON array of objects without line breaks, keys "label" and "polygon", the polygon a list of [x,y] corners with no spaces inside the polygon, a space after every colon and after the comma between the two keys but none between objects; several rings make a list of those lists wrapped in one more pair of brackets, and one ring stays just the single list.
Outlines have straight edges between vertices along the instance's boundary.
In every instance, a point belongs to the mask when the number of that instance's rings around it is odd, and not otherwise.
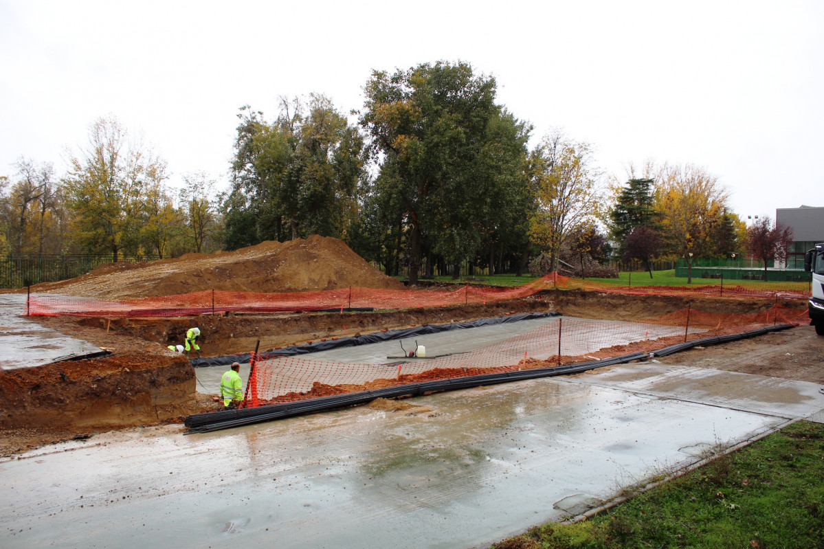
[{"label": "dark metal fence at far left, below the yellow trees", "polygon": [[[0,288],[24,288],[40,282],[58,282],[85,275],[110,263],[112,256],[85,254],[22,254],[0,256]],[[151,261],[152,256],[119,257],[121,261]]]}]

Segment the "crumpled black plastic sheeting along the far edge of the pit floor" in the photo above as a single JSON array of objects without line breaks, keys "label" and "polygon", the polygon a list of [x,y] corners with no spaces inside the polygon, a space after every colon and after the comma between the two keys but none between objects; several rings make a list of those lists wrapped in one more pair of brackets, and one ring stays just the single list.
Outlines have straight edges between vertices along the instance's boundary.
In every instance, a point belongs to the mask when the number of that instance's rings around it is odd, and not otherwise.
[{"label": "crumpled black plastic sheeting along the far edge of the pit floor", "polygon": [[[284,347],[283,349],[270,350],[260,353],[260,359],[271,359],[276,356],[295,356],[297,354],[316,353],[322,350],[339,349],[341,347],[353,347],[356,345],[368,345],[379,341],[400,340],[407,337],[425,336],[427,334],[438,334],[442,331],[466,330],[467,328],[477,328],[478,326],[494,326],[496,324],[508,324],[531,320],[534,318],[559,317],[560,313],[550,312],[529,312],[522,315],[511,315],[509,317],[481,318],[471,322],[456,322],[454,324],[435,324],[427,326],[415,326],[414,328],[404,328],[403,330],[377,331],[366,336],[342,337],[337,340],[314,341],[305,345],[294,347]],[[228,366],[233,362],[244,364],[251,359],[250,353],[232,354],[229,356],[218,356],[209,359],[191,359],[190,363],[194,368],[204,368],[207,366]]]}]

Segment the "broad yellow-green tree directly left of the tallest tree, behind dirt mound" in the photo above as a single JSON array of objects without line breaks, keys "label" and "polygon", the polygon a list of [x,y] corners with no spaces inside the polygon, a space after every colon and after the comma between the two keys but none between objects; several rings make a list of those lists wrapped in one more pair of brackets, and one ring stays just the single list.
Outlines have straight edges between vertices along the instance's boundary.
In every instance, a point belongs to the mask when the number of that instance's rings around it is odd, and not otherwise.
[{"label": "broad yellow-green tree directly left of the tallest tree, behind dirt mound", "polygon": [[[340,237],[357,213],[363,138],[325,96],[281,98],[277,120],[241,109],[226,241],[255,243],[317,233]],[[247,242],[250,225],[255,242]]]}]

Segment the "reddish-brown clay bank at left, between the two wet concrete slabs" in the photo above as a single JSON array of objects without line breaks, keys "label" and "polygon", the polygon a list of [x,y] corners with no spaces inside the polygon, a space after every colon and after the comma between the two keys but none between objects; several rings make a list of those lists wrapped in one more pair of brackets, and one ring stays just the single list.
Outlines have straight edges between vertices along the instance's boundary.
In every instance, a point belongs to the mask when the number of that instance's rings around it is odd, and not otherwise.
[{"label": "reddish-brown clay bank at left, between the two wet concrete slabs", "polygon": [[213,409],[211,397],[195,391],[184,357],[130,346],[109,357],[0,370],[0,455]]}]

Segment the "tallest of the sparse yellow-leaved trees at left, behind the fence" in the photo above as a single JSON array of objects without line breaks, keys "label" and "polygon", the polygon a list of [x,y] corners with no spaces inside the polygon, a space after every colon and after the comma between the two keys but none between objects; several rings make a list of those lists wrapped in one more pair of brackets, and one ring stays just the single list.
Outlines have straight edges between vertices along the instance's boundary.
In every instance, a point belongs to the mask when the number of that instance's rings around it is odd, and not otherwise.
[{"label": "tallest of the sparse yellow-leaved trees at left, behind the fence", "polygon": [[75,240],[85,250],[139,251],[140,213],[147,188],[166,180],[166,162],[113,117],[91,124],[89,143],[70,160],[65,180]]}]

